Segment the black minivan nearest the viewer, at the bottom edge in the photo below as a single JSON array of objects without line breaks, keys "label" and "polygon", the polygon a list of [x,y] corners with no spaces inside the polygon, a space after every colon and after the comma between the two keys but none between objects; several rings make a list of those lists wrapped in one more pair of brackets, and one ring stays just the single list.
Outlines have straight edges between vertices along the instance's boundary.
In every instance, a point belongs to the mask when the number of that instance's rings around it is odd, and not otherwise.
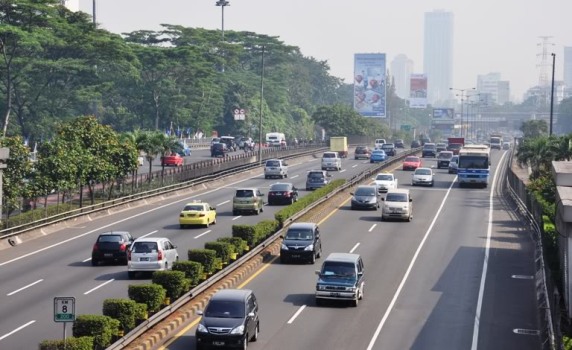
[{"label": "black minivan nearest the viewer, at the bottom edge", "polygon": [[241,348],[258,339],[258,303],[251,290],[221,289],[212,296],[195,332],[196,349]]}]

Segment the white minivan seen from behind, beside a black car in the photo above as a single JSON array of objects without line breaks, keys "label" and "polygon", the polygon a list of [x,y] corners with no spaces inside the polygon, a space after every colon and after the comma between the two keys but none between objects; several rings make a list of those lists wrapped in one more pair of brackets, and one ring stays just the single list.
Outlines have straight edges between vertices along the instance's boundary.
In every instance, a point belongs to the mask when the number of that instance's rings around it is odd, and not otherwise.
[{"label": "white minivan seen from behind, beside a black car", "polygon": [[133,278],[137,272],[171,270],[177,261],[177,246],[168,238],[137,238],[127,254],[127,277]]}]

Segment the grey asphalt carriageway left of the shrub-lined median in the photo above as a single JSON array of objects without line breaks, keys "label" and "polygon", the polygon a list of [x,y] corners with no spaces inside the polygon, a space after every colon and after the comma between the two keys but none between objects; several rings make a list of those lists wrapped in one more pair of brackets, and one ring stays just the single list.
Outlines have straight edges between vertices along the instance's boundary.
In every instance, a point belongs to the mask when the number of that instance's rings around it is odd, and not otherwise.
[{"label": "grey asphalt carriageway left of the shrub-lined median", "polygon": [[[191,158],[199,157],[194,151]],[[208,152],[208,151],[207,151]],[[289,162],[290,181],[307,192],[305,174],[319,168],[319,159]],[[331,172],[332,179],[350,177],[370,167],[367,161],[348,159],[341,172]],[[263,193],[280,180],[265,180],[262,170],[229,178],[218,188],[203,186],[183,196],[165,196],[147,205],[109,213],[93,221],[77,221],[69,227],[41,238],[27,241],[0,254],[0,349],[35,349],[44,339],[61,339],[63,324],[53,321],[53,298],[76,298],[76,315],[101,314],[103,300],[126,298],[127,287],[148,283],[149,276],[136,280],[127,278],[126,266],[92,267],[91,248],[97,235],[110,230],[130,231],[135,237],[153,235],[168,237],[177,246],[181,260],[187,249],[203,248],[204,243],[230,236],[233,224],[255,224],[272,218],[281,206],[266,206],[260,216],[232,216],[232,196],[236,187],[259,187]],[[200,199],[217,207],[217,224],[208,229],[181,230],[178,215],[185,203]],[[71,324],[67,335],[71,336]]]}]

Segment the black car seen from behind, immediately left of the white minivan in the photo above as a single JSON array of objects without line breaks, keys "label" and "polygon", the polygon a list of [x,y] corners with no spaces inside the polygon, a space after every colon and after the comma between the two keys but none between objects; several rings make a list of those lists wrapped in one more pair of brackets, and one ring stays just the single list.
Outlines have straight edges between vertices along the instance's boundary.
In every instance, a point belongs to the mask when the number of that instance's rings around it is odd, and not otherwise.
[{"label": "black car seen from behind, immediately left of the white minivan", "polygon": [[127,252],[135,239],[127,231],[101,233],[91,249],[91,265],[100,262],[121,262],[127,264]]}]

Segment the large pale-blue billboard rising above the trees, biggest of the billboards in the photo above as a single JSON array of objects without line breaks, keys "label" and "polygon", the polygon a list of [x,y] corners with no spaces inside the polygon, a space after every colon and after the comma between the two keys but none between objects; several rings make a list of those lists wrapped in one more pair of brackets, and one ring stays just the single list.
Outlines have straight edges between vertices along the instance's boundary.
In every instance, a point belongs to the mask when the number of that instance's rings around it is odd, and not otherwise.
[{"label": "large pale-blue billboard rising above the trees, biggest of the billboards", "polygon": [[354,55],[354,110],[364,117],[387,117],[384,53]]}]

